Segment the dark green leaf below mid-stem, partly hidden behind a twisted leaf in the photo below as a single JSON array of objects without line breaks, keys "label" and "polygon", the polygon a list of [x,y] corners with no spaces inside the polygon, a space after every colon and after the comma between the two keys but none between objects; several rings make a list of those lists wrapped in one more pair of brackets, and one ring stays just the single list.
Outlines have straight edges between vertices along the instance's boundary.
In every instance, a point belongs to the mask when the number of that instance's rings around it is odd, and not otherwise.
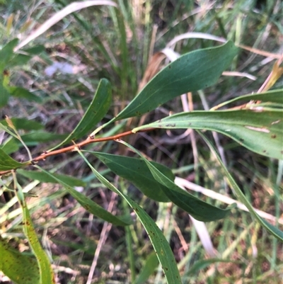
[{"label": "dark green leaf below mid-stem, partly hidden behind a twisted leaf", "polygon": [[[118,176],[127,179],[134,184],[139,190],[144,193],[149,198],[159,201],[159,202],[169,202],[168,197],[163,193],[167,188],[161,183],[158,183],[152,176],[149,167],[142,159],[129,158],[118,155],[91,152],[100,161],[102,161],[108,168],[113,171]],[[166,166],[161,164],[151,162],[156,168],[161,171],[165,176],[174,181],[175,176],[172,171]],[[163,187],[163,189],[161,189]]]}]

